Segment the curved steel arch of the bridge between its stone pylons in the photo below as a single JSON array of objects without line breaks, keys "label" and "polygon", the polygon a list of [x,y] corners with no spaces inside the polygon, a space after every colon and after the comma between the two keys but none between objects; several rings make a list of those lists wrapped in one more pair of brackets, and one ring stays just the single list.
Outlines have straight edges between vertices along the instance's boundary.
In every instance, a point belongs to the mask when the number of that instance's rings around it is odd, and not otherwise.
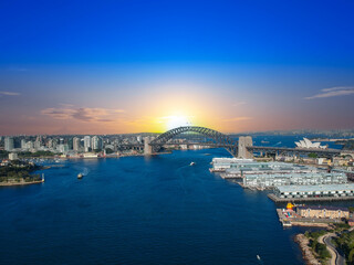
[{"label": "curved steel arch of the bridge between its stone pylons", "polygon": [[229,136],[223,135],[217,130],[209,129],[206,127],[199,127],[199,126],[183,126],[183,127],[170,129],[159,135],[154,140],[152,140],[149,145],[154,147],[162,147],[175,136],[184,132],[197,132],[197,134],[210,137],[212,140],[216,141],[216,144],[220,145],[220,147],[225,147],[225,149],[227,149],[232,156],[237,156],[238,142],[236,140],[231,139]]}]

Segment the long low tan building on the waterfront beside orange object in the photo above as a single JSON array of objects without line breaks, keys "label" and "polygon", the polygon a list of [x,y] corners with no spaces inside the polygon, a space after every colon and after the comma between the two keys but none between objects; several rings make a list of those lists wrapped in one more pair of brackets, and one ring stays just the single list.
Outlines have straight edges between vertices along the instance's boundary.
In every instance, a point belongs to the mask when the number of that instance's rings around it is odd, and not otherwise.
[{"label": "long low tan building on the waterfront beside orange object", "polygon": [[306,205],[296,206],[296,213],[302,218],[350,219],[350,210],[339,206]]}]

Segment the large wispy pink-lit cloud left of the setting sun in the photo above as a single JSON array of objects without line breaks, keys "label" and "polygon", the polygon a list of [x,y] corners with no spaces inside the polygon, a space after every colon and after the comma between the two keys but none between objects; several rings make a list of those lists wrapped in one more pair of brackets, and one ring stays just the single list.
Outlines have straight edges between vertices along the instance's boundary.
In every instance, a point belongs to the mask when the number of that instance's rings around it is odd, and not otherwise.
[{"label": "large wispy pink-lit cloud left of the setting sun", "polygon": [[42,115],[51,116],[55,119],[76,119],[86,123],[115,121],[118,119],[117,115],[122,113],[124,113],[123,109],[75,107],[70,104],[61,104],[59,108],[45,108],[41,110]]}]

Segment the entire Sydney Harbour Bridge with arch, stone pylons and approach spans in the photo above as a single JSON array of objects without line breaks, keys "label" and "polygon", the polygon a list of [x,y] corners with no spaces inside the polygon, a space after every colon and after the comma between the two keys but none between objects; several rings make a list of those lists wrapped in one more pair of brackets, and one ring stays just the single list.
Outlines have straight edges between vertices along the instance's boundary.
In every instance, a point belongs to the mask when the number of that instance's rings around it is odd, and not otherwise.
[{"label": "entire Sydney Harbour Bridge with arch, stone pylons and approach spans", "polygon": [[[173,139],[177,136],[186,132],[199,134],[211,141],[208,142],[176,142]],[[118,149],[144,149],[145,155],[158,153],[164,147],[178,146],[178,145],[198,145],[208,146],[215,148],[225,148],[233,157],[239,158],[252,158],[254,152],[258,153],[287,153],[287,155],[309,155],[316,153],[322,157],[332,157],[341,153],[337,149],[301,149],[301,148],[285,148],[285,147],[266,147],[253,146],[251,136],[240,136],[235,139],[228,135],[219,132],[214,129],[199,126],[183,126],[170,129],[156,138],[145,137],[144,144],[123,144],[118,146]]]}]

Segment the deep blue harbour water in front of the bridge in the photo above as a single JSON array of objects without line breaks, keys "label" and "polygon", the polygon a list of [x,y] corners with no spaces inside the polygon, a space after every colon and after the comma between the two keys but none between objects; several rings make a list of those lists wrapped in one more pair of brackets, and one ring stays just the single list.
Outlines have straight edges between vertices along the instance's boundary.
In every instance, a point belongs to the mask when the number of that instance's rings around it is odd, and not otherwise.
[{"label": "deep blue harbour water in front of the bridge", "polygon": [[220,156],[71,160],[43,184],[2,188],[0,263],[303,264],[301,229],[283,230],[267,193],[210,173]]}]

